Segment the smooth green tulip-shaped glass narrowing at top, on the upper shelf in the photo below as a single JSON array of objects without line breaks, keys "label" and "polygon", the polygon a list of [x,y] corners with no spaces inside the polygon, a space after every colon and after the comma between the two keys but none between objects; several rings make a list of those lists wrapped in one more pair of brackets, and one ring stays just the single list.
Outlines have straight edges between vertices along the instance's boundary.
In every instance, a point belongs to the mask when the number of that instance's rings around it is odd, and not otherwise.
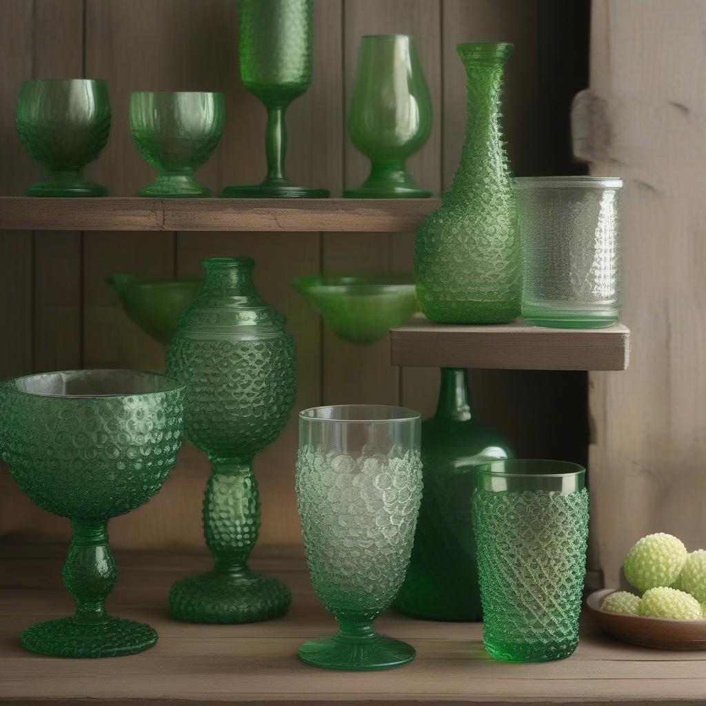
[{"label": "smooth green tulip-shaped glass narrowing at top, on the upper shelf", "polygon": [[405,160],[431,132],[431,101],[414,37],[361,37],[348,109],[351,142],[370,158],[369,177],[348,198],[428,198],[407,174]]}]

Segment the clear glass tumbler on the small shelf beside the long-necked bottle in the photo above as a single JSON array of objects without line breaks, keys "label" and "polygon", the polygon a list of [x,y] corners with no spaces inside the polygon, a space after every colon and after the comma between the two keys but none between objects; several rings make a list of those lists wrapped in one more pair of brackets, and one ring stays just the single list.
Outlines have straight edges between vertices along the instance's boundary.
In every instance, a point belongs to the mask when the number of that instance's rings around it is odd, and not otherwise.
[{"label": "clear glass tumbler on the small shelf beside the long-necked bottle", "polygon": [[600,328],[620,312],[623,180],[522,177],[522,317],[551,328]]}]

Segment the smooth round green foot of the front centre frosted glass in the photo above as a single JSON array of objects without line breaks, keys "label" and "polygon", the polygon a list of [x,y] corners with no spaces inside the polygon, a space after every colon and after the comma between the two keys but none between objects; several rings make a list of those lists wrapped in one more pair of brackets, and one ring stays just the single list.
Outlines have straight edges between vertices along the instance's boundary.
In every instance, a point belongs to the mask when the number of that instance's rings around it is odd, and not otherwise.
[{"label": "smooth round green foot of the front centre frosted glass", "polygon": [[380,671],[397,669],[414,659],[416,652],[407,642],[374,635],[371,638],[333,638],[309,640],[297,650],[299,659],[321,669]]}]

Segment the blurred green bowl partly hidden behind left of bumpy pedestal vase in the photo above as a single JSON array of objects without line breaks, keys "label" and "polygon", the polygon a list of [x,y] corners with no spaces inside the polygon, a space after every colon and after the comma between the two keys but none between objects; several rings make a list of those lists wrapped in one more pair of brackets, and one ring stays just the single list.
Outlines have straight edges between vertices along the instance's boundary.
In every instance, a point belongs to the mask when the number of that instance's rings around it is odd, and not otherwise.
[{"label": "blurred green bowl partly hidden behind left of bumpy pedestal vase", "polygon": [[155,341],[166,345],[177,330],[181,312],[196,297],[203,280],[116,274],[106,277],[105,283],[115,292],[131,320]]}]

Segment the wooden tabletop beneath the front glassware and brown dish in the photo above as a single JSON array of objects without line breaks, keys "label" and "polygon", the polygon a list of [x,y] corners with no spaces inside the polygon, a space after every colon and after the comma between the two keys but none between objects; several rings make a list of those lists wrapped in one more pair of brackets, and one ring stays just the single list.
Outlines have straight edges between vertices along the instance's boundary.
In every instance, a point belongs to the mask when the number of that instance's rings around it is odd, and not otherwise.
[{"label": "wooden tabletop beneath the front glassware and brown dish", "polygon": [[109,610],[149,621],[148,652],[112,659],[51,659],[25,652],[26,626],[67,614],[62,549],[0,545],[0,701],[76,704],[249,703],[317,705],[484,703],[680,703],[706,700],[706,652],[662,652],[615,642],[590,618],[577,652],[562,662],[504,664],[483,650],[479,623],[417,621],[387,611],[378,630],[407,640],[417,659],[384,672],[335,672],[297,660],[307,638],[329,635],[333,618],[311,590],[299,546],[263,549],[251,566],[285,580],[294,602],[284,618],[242,626],[179,623],[169,585],[208,568],[206,556],[116,552]]}]

